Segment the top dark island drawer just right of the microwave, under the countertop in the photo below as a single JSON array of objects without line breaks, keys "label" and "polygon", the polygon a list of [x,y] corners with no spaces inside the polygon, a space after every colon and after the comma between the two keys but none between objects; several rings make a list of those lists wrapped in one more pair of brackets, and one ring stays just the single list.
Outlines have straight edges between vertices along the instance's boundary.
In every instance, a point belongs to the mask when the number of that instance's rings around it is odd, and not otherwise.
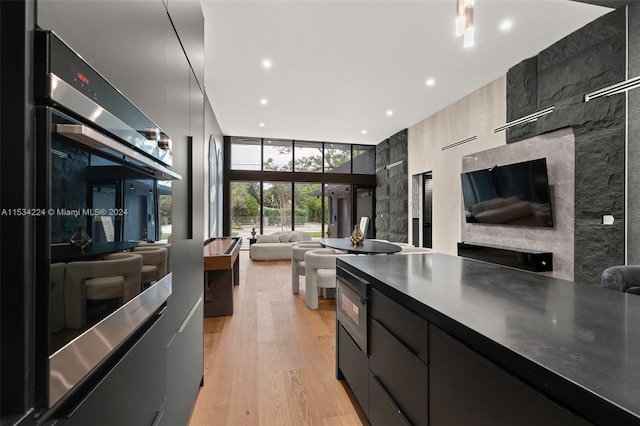
[{"label": "top dark island drawer just right of the microwave, under the countertop", "polygon": [[429,323],[379,291],[371,290],[371,316],[422,361],[429,362]]}]

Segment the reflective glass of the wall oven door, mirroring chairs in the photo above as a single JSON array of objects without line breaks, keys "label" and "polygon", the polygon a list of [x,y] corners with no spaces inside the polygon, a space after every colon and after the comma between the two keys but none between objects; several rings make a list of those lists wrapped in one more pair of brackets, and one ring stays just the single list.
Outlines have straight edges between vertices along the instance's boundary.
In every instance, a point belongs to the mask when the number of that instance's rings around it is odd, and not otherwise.
[{"label": "reflective glass of the wall oven door, mirroring chairs", "polygon": [[[60,136],[51,147],[53,354],[171,271],[171,182]],[[84,249],[70,243],[78,228]]]}]

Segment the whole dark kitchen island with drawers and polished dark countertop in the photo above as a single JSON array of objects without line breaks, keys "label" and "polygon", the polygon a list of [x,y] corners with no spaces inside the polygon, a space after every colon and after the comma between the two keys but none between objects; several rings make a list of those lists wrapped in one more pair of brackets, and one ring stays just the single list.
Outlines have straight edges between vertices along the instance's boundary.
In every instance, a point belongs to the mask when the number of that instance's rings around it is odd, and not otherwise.
[{"label": "whole dark kitchen island with drawers and polished dark countertop", "polygon": [[373,425],[640,425],[640,297],[439,253],[337,266],[370,287],[337,376]]}]

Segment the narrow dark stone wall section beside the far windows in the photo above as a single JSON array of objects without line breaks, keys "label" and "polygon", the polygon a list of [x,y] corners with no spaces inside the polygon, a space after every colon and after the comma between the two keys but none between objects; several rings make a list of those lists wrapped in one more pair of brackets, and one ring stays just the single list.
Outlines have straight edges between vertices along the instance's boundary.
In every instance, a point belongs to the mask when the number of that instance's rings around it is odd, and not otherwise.
[{"label": "narrow dark stone wall section beside the far windows", "polygon": [[[376,145],[376,238],[408,242],[407,130]],[[386,169],[389,164],[402,164]]]}]

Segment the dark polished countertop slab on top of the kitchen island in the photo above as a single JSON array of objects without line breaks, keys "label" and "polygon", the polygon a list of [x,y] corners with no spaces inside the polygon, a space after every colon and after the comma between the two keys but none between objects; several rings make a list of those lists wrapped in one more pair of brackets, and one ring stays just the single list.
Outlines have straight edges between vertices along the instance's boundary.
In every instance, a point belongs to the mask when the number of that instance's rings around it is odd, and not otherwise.
[{"label": "dark polished countertop slab on top of the kitchen island", "polygon": [[339,257],[597,424],[640,425],[640,297],[440,253]]}]

